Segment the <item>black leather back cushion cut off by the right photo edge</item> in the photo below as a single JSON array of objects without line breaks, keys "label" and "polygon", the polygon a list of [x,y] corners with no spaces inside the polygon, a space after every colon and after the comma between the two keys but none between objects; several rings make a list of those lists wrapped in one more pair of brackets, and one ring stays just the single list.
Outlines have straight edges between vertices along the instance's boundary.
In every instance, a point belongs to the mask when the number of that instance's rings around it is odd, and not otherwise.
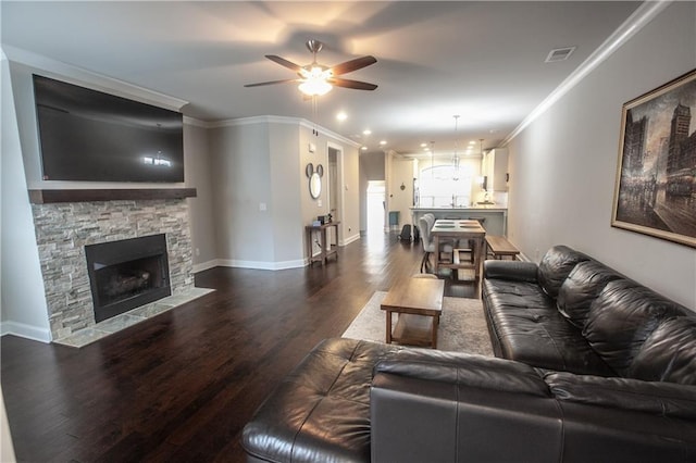
[{"label": "black leather back cushion cut off by the right photo edge", "polygon": [[696,316],[670,318],[645,340],[631,364],[629,377],[696,386],[695,359]]}]

